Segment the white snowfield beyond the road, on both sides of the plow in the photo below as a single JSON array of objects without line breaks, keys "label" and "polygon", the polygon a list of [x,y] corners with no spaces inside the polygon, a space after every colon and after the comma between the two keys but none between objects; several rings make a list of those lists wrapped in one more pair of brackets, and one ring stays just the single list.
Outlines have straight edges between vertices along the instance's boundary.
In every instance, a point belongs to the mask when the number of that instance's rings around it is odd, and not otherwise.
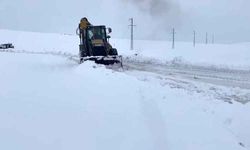
[{"label": "white snowfield beyond the road, on both sides of the plow", "polygon": [[[11,30],[0,30],[0,35],[1,43],[12,42],[18,50],[78,53],[79,38],[75,35]],[[123,56],[137,53],[139,58],[143,57],[143,60],[157,63],[175,62],[224,69],[250,70],[250,42],[196,44],[195,48],[191,42],[177,42],[176,48],[171,49],[172,43],[168,41],[136,40],[134,51],[129,50],[130,41],[127,39],[111,38],[111,44]]]}]

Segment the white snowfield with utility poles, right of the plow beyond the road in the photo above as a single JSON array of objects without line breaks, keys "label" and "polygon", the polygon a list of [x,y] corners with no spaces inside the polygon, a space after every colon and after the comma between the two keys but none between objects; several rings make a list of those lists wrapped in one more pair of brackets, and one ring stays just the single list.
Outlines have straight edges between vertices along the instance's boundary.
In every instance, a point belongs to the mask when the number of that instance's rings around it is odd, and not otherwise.
[{"label": "white snowfield with utility poles, right of the plow beyond the road", "polygon": [[129,50],[129,40],[113,40],[119,52],[124,56],[133,56],[137,61],[144,60],[153,63],[178,63],[217,67],[224,69],[250,70],[250,43],[239,44],[196,44],[191,42],[176,42],[175,49],[167,41],[135,41],[135,50]]}]

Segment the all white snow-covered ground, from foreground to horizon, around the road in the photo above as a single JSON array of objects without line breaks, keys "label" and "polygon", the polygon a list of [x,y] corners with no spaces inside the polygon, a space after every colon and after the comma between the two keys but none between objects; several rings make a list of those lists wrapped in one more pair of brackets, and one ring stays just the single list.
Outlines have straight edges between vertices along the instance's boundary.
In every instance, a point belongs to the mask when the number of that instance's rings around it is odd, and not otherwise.
[{"label": "all white snow-covered ground, from foreground to horizon, around the road", "polygon": [[227,78],[232,82],[249,73],[248,43],[177,43],[172,50],[168,42],[137,41],[135,56],[128,40],[113,40],[127,67],[113,70],[61,57],[77,54],[73,35],[0,30],[6,42],[25,53],[0,53],[0,149],[250,149],[248,86],[151,67],[223,68],[220,77],[241,72]]}]

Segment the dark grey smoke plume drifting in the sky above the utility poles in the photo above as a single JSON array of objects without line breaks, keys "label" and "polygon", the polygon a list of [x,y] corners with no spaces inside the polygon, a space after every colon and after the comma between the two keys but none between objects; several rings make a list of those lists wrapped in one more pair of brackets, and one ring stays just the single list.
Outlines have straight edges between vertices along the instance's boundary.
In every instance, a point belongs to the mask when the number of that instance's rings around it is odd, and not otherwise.
[{"label": "dark grey smoke plume drifting in the sky above the utility poles", "polygon": [[[181,10],[179,3],[174,0],[121,0],[124,4],[135,7],[137,11],[143,14],[145,19],[137,18],[143,22],[143,26],[148,26],[145,30],[150,29],[148,37],[153,39],[166,38],[173,27],[181,24]],[[137,14],[135,14],[136,16]],[[149,33],[151,32],[151,33]],[[158,33],[157,33],[158,32]],[[165,35],[161,33],[164,32]]]}]

